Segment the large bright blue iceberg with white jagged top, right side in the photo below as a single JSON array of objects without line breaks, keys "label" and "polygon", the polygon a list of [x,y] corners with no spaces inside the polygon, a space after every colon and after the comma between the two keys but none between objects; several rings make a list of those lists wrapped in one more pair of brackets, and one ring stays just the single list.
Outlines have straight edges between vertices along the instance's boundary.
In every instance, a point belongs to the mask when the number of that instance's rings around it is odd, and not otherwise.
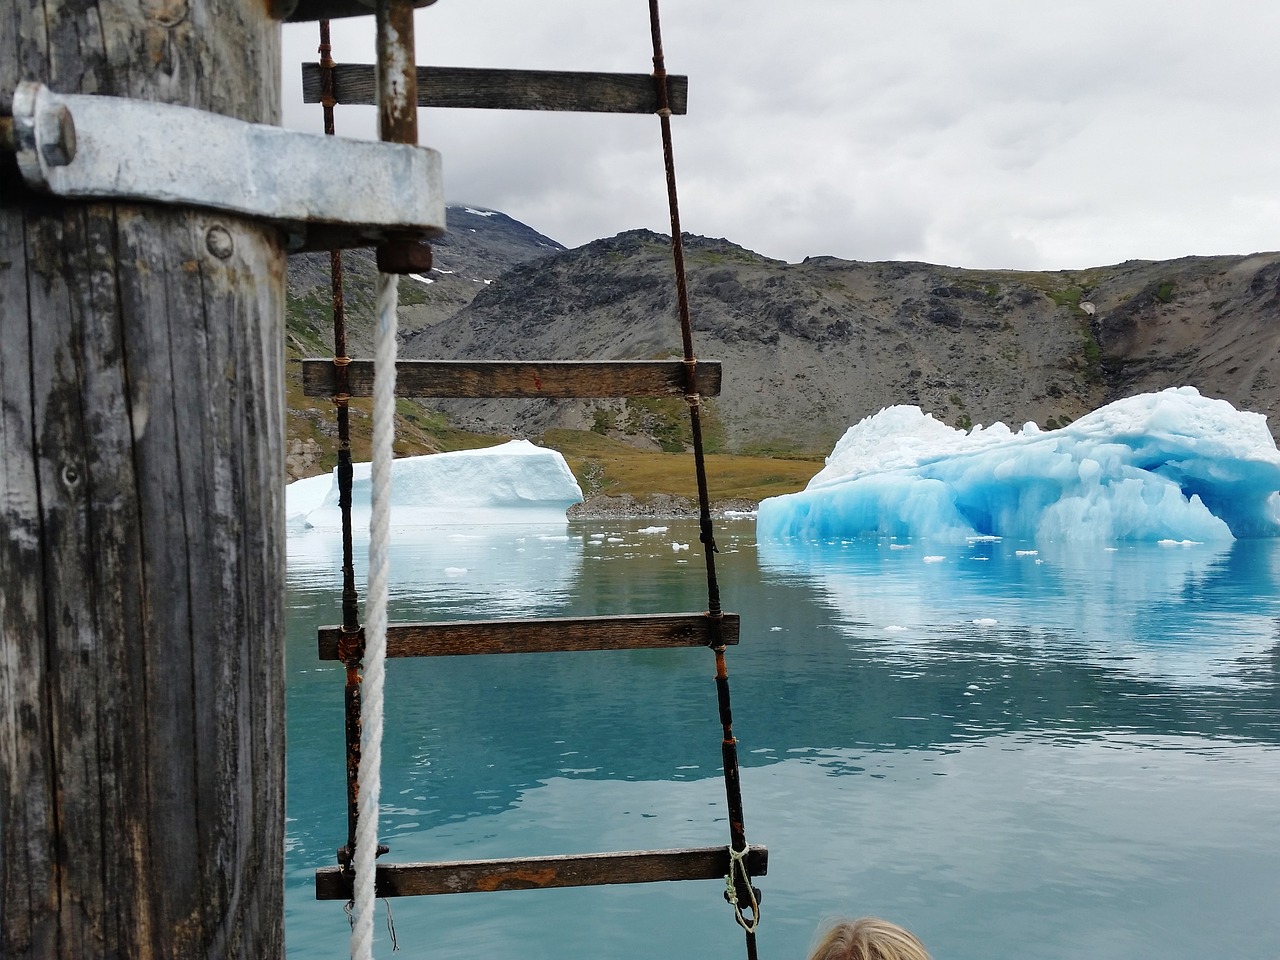
[{"label": "large bright blue iceberg with white jagged top, right side", "polygon": [[1059,430],[956,430],[896,406],[851,426],[800,493],[760,503],[760,538],[1230,541],[1280,534],[1266,417],[1178,387]]}]

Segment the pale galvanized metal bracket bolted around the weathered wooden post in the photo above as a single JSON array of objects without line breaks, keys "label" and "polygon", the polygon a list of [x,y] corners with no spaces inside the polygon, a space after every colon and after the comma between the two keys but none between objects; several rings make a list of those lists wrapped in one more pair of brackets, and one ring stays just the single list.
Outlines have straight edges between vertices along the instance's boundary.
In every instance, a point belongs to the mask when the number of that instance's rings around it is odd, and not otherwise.
[{"label": "pale galvanized metal bracket bolted around the weathered wooden post", "polygon": [[[20,83],[13,147],[27,184],[65,198],[210,207],[280,225],[289,252],[444,232],[440,155],[172,104]],[[358,177],[358,180],[353,180]]]}]

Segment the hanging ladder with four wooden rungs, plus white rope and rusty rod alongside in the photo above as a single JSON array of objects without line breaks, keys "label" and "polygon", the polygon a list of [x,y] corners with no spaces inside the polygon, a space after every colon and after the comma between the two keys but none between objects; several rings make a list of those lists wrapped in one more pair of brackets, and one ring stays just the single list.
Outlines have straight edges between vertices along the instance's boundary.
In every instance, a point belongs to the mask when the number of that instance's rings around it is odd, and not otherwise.
[{"label": "hanging ladder with four wooden rungs, plus white rope and rusty rod alongside", "polygon": [[[347,771],[347,842],[338,865],[316,872],[316,897],[346,900],[352,911],[352,956],[371,955],[375,897],[445,892],[553,888],[604,883],[722,879],[724,899],[742,928],[748,960],[755,960],[760,892],[753,878],[768,869],[768,850],[746,841],[733,736],[726,649],[739,641],[740,621],[721,608],[717,547],[701,431],[701,398],[719,390],[721,367],[694,353],[680,206],[676,191],[671,116],[684,113],[687,81],[667,74],[658,0],[649,0],[653,73],[588,74],[532,70],[451,70],[419,68],[413,54],[412,6],[380,0],[379,69],[334,63],[328,20],[320,22],[320,59],[303,67],[303,97],[320,102],[325,133],[334,133],[339,102],[379,106],[384,140],[417,142],[417,106],[493,109],[562,109],[657,114],[671,212],[672,264],[682,343],[680,361],[397,361],[397,274],[430,269],[430,248],[390,237],[378,248],[379,307],[376,360],[347,356],[343,266],[330,253],[334,357],[303,361],[307,396],[333,399],[338,428],[338,485],[342,512],[342,623],[321,627],[321,659],[346,669],[344,728]],[[369,83],[375,78],[376,95]],[[550,108],[548,104],[553,104]],[[399,388],[397,389],[397,383]],[[549,388],[549,389],[548,389]],[[372,396],[374,504],[370,532],[367,625],[361,626],[352,557],[352,454],[349,401]],[[447,623],[388,623],[387,539],[392,421],[396,397],[682,397],[689,407],[698,485],[699,539],[704,547],[707,611],[701,613],[502,620]],[[378,864],[388,852],[378,844],[378,791],[381,737],[381,677],[387,657],[436,657],[489,653],[654,649],[707,646],[714,654],[717,710],[722,730],[730,842],[727,847],[622,851],[567,856],[515,858],[419,864]],[[365,790],[362,790],[365,785]],[[536,877],[531,882],[530,877]],[[393,932],[394,941],[394,932]]]}]

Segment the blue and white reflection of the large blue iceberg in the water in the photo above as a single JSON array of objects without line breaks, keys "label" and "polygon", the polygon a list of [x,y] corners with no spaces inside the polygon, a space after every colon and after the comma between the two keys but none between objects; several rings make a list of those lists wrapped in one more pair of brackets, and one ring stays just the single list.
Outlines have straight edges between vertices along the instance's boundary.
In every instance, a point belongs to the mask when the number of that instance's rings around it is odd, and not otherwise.
[{"label": "blue and white reflection of the large blue iceberg in the water", "polygon": [[1151,680],[1233,685],[1275,644],[1280,616],[1271,541],[764,541],[759,554],[762,570],[809,581],[850,636],[878,639],[886,655],[1004,637]]}]

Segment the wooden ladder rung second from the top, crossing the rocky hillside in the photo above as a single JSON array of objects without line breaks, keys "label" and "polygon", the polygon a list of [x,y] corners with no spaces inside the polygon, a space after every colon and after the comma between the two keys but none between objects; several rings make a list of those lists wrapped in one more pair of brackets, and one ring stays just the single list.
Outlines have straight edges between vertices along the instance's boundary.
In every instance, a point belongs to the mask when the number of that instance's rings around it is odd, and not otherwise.
[{"label": "wooden ladder rung second from the top, crossing the rocky hillside", "polygon": [[[332,397],[332,360],[302,361],[307,397]],[[698,392],[718,397],[721,364],[698,361]],[[347,365],[347,393],[374,396],[374,361]],[[684,397],[682,360],[401,360],[396,396],[485,399],[492,397],[588,399],[596,397]]]}]

